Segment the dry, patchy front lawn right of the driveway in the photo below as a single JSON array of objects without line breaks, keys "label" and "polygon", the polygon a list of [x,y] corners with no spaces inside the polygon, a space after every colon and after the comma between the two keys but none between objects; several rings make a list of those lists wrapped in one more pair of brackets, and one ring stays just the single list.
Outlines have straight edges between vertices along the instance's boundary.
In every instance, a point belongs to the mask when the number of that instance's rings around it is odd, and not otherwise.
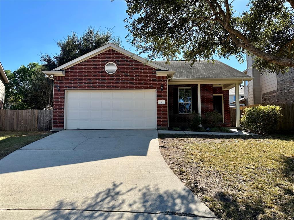
[{"label": "dry, patchy front lawn right of the driveway", "polygon": [[221,219],[294,219],[294,136],[159,135],[173,172]]}]

